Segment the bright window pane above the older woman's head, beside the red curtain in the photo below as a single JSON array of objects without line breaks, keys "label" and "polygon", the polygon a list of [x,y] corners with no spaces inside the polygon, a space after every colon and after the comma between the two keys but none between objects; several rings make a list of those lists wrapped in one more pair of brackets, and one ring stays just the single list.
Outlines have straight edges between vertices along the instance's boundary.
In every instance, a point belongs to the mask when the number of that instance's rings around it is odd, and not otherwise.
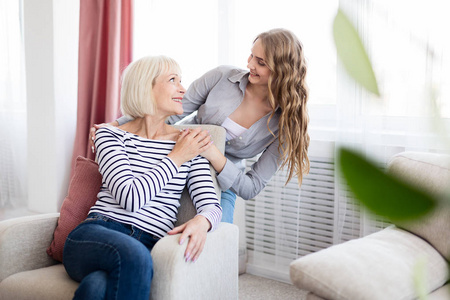
[{"label": "bright window pane above the older woman's head, beside the red curtain", "polygon": [[183,85],[216,67],[217,1],[135,0],[133,57],[167,55],[183,71]]}]

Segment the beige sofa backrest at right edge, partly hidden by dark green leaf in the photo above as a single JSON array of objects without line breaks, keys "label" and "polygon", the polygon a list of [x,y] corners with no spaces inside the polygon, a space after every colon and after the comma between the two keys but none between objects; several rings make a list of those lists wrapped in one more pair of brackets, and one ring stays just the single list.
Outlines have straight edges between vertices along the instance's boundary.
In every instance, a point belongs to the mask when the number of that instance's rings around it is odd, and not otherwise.
[{"label": "beige sofa backrest at right edge, partly hidden by dark green leaf", "polygon": [[450,156],[402,152],[391,159],[388,170],[442,199],[438,207],[424,217],[396,225],[427,240],[450,260]]}]

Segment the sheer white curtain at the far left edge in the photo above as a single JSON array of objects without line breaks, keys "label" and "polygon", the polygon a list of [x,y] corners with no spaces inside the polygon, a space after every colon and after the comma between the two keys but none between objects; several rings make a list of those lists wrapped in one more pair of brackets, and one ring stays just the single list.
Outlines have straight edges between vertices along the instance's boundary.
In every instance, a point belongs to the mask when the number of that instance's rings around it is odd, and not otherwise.
[{"label": "sheer white curtain at the far left edge", "polygon": [[26,98],[21,1],[0,0],[0,208],[26,203]]}]

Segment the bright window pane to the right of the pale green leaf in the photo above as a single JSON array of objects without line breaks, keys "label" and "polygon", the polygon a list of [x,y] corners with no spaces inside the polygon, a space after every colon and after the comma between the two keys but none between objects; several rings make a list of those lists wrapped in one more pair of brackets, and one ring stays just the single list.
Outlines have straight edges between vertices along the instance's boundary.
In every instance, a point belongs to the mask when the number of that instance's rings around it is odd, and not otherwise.
[{"label": "bright window pane to the right of the pale green leaf", "polygon": [[[407,7],[407,9],[405,9]],[[450,117],[450,43],[443,1],[370,1],[361,7],[385,116],[424,117],[431,111],[431,89],[444,117]],[[363,26],[363,25],[362,25]],[[445,101],[444,99],[447,99]]]}]

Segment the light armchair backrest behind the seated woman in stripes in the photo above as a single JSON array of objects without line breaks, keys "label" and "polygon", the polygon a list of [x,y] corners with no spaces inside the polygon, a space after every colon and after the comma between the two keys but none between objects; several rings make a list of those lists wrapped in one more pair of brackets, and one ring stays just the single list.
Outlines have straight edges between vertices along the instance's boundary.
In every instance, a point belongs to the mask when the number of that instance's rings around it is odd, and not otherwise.
[{"label": "light armchair backrest behind the seated woman in stripes", "polygon": [[[222,154],[225,151],[225,129],[220,126],[216,125],[176,125],[177,128],[195,128],[195,127],[202,127],[205,130],[209,130],[209,133],[212,136],[212,140],[214,141],[214,145],[222,152]],[[211,175],[214,182],[214,187],[216,189],[217,197],[220,201],[220,189],[219,185],[216,180],[216,171],[213,169],[213,167],[210,165],[211,168]],[[196,215],[196,210],[194,208],[194,205],[192,204],[191,197],[189,196],[189,193],[187,189],[185,188],[183,191],[183,195],[180,199],[180,207],[178,209],[178,220],[176,222],[176,226],[181,225],[183,223],[186,223],[190,219],[192,219]]]}]

